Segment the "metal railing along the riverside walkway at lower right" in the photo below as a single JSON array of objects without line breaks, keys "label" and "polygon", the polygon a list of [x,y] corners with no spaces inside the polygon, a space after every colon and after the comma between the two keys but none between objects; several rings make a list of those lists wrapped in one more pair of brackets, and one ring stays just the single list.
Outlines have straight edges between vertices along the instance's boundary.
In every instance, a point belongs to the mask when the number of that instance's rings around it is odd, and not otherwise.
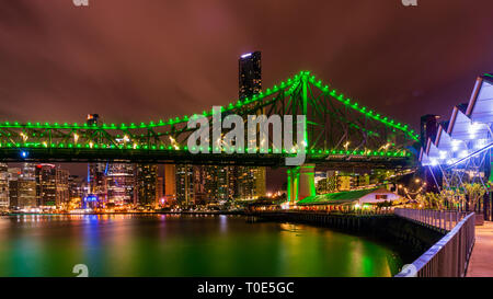
[{"label": "metal railing along the riverside walkway at lower right", "polygon": [[[448,214],[448,215],[447,215]],[[395,277],[465,277],[475,234],[475,214],[395,209],[395,215],[449,232]],[[448,216],[448,220],[444,215]]]}]

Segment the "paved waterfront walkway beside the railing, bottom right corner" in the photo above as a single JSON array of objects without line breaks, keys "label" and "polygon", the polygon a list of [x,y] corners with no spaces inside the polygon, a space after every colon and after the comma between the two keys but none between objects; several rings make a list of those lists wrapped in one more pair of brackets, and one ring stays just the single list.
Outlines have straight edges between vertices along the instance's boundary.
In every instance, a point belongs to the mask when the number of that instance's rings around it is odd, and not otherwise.
[{"label": "paved waterfront walkway beside the railing, bottom right corner", "polygon": [[475,244],[472,250],[467,277],[493,277],[493,222],[475,227]]}]

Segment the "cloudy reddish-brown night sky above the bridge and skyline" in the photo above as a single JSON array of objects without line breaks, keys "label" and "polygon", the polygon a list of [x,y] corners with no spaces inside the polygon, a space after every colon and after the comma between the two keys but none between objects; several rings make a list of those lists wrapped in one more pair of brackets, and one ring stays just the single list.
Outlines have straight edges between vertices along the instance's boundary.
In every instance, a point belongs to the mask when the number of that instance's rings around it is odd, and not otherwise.
[{"label": "cloudy reddish-brown night sky above the bridge and skyline", "polygon": [[0,0],[0,122],[149,122],[238,96],[238,57],[264,88],[311,70],[417,129],[493,71],[493,1]]}]

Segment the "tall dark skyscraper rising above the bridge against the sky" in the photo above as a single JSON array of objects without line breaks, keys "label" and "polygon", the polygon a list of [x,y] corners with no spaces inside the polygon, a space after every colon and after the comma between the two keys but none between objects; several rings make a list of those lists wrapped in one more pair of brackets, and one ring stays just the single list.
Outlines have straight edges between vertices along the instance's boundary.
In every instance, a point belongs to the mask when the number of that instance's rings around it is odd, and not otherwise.
[{"label": "tall dark skyscraper rising above the bridge against the sky", "polygon": [[239,59],[239,97],[250,97],[262,91],[262,55],[260,51],[244,54]]}]

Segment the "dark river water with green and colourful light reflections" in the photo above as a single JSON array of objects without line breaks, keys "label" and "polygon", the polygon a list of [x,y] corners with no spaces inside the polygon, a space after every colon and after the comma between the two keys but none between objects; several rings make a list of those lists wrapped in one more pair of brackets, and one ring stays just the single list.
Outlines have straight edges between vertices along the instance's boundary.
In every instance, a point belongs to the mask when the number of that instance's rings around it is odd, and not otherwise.
[{"label": "dark river water with green and colourful light reflections", "polygon": [[0,218],[0,276],[392,276],[402,261],[365,238],[241,216]]}]

